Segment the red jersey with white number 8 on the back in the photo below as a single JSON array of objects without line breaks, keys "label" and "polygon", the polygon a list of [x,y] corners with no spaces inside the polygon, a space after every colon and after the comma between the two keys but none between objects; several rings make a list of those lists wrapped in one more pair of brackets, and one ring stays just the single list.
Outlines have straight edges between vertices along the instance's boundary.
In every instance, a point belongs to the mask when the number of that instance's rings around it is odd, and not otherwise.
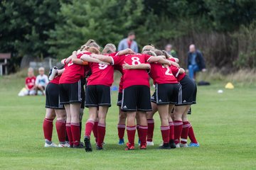
[{"label": "red jersey with white number 8 on the back", "polygon": [[[146,63],[150,55],[144,54],[135,54],[135,55],[117,55],[112,57],[113,64],[122,66],[124,62],[127,64],[142,64]],[[129,86],[136,86],[136,85],[144,85],[149,86],[149,75],[146,72],[146,69],[123,69],[124,72],[124,83],[123,89],[126,89]]]}]

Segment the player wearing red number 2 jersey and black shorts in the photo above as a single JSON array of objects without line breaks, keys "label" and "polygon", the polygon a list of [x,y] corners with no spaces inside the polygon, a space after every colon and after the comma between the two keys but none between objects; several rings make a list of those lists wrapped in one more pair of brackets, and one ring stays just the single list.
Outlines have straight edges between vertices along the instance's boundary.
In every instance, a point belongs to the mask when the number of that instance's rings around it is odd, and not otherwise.
[{"label": "player wearing red number 2 jersey and black shorts", "polygon": [[[145,54],[156,56],[154,52],[144,51]],[[157,62],[151,63],[150,77],[154,80],[156,91],[151,102],[156,103],[156,109],[161,118],[161,135],[164,145],[159,149],[171,149],[170,128],[169,128],[169,107],[174,108],[178,99],[178,81],[171,72],[168,65],[163,66]],[[153,104],[154,105],[154,104]],[[155,106],[154,106],[155,107]],[[170,142],[170,143],[169,143]]]}]

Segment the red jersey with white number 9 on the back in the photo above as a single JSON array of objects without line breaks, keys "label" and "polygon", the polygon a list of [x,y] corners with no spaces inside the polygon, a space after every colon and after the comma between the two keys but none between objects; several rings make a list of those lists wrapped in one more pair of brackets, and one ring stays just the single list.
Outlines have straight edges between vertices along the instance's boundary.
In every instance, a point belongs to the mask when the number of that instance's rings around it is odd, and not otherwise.
[{"label": "red jersey with white number 9 on the back", "polygon": [[[115,54],[114,52],[110,56]],[[92,75],[87,79],[87,85],[112,86],[114,81],[114,67],[112,65],[90,62],[89,66],[92,70]]]}]

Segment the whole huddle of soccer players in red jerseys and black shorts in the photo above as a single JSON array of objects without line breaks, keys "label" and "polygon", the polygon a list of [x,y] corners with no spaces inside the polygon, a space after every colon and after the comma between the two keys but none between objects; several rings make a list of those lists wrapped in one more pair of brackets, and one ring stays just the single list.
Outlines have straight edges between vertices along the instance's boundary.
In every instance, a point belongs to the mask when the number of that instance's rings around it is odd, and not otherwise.
[{"label": "whole huddle of soccer players in red jerseys and black shorts", "polygon": [[[187,119],[191,105],[196,103],[196,84],[179,67],[178,59],[167,52],[154,45],[144,46],[142,53],[129,48],[117,52],[111,43],[100,52],[100,45],[88,40],[80,50],[63,59],[62,64],[63,68],[58,68],[46,87],[45,147],[85,148],[86,152],[92,152],[93,132],[97,149],[103,149],[114,70],[122,74],[117,101],[119,145],[124,145],[125,129],[126,150],[134,149],[136,130],[140,149],[154,145],[153,116],[159,112],[163,140],[159,149],[199,146]],[[152,96],[149,77],[155,87]],[[89,108],[89,117],[83,144],[80,138],[85,107]],[[51,140],[55,117],[59,145]]]}]

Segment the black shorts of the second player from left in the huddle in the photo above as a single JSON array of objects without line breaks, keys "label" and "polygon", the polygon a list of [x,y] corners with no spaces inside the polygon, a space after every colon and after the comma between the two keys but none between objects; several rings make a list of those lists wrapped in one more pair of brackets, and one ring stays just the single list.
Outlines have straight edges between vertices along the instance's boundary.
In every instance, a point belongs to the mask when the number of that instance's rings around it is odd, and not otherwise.
[{"label": "black shorts of the second player from left in the huddle", "polygon": [[59,84],[60,86],[60,104],[82,103],[82,85],[81,81],[74,84]]}]

